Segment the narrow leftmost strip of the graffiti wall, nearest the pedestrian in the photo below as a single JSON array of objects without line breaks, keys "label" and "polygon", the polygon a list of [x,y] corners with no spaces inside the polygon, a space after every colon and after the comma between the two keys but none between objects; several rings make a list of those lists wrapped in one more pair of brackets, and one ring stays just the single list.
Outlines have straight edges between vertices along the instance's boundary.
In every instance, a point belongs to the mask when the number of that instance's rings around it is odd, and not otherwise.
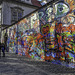
[{"label": "narrow leftmost strip of the graffiti wall, nearest the pedestrian", "polygon": [[17,25],[10,27],[7,29],[8,32],[8,40],[7,47],[9,47],[10,53],[16,53],[17,51]]}]

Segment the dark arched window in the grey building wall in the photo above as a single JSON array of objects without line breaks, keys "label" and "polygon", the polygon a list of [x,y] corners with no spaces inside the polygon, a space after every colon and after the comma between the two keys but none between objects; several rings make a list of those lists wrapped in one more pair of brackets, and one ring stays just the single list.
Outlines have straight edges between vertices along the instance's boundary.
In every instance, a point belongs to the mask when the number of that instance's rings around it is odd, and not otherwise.
[{"label": "dark arched window in the grey building wall", "polygon": [[23,10],[18,7],[11,8],[11,22],[14,23],[23,17]]}]

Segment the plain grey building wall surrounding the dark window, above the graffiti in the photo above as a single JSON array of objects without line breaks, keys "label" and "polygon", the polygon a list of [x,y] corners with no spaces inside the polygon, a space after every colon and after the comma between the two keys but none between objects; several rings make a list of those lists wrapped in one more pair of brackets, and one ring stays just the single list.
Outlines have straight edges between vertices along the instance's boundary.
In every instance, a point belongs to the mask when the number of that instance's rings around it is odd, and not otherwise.
[{"label": "plain grey building wall surrounding the dark window, above the graffiti", "polygon": [[35,10],[34,8],[23,6],[22,4],[19,5],[19,4],[9,3],[9,2],[3,2],[3,4],[2,4],[2,13],[3,13],[2,24],[11,25],[11,7],[22,8],[24,10],[23,11],[23,17],[25,15],[29,14],[30,12],[32,12],[33,10]]}]

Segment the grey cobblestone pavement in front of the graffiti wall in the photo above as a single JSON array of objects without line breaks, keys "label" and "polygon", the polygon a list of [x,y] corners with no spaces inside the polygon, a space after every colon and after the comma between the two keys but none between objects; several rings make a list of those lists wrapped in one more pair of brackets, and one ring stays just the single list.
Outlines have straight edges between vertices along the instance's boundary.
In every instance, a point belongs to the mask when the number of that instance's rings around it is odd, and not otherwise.
[{"label": "grey cobblestone pavement in front of the graffiti wall", "polygon": [[0,58],[0,75],[75,75],[75,68],[6,53]]}]

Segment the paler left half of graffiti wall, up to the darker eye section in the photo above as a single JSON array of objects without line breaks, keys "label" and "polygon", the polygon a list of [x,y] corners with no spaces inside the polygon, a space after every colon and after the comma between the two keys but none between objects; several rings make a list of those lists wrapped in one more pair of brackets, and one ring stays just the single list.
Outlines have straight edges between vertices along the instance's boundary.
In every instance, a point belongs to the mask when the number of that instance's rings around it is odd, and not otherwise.
[{"label": "paler left half of graffiti wall, up to the darker eye section", "polygon": [[40,33],[38,12],[9,27],[7,31],[9,52],[44,60],[44,39]]}]

